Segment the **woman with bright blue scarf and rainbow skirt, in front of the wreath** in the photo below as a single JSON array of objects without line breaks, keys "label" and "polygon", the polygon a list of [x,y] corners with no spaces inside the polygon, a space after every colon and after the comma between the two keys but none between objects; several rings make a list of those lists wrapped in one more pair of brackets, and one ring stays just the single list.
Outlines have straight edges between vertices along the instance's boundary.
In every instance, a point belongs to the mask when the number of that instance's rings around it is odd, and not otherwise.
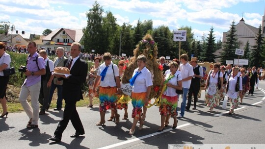
[{"label": "woman with bright blue scarf and rainbow skirt, in front of the wreath", "polygon": [[144,104],[148,103],[149,95],[151,92],[151,87],[153,86],[152,75],[150,71],[145,67],[146,57],[141,54],[137,57],[137,65],[132,74],[132,79],[130,83],[132,85],[132,118],[133,124],[130,129],[129,134],[133,135],[135,127],[138,121],[140,121],[139,130],[143,129],[143,123],[141,114],[142,107]]}]

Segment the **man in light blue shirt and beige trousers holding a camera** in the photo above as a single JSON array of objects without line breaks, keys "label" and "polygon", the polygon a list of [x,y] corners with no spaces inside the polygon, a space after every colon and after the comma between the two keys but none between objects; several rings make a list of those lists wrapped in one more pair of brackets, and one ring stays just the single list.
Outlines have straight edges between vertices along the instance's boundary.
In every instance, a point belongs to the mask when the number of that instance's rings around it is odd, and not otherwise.
[{"label": "man in light blue shirt and beige trousers holding a camera", "polygon": [[[29,42],[27,44],[27,50],[29,52],[27,57],[27,70],[24,72],[27,78],[21,87],[19,101],[29,117],[27,128],[36,128],[38,127],[39,120],[38,99],[41,88],[41,75],[46,74],[45,61],[43,57],[36,52],[37,46],[35,42]],[[30,95],[32,107],[27,102],[28,95]]]}]

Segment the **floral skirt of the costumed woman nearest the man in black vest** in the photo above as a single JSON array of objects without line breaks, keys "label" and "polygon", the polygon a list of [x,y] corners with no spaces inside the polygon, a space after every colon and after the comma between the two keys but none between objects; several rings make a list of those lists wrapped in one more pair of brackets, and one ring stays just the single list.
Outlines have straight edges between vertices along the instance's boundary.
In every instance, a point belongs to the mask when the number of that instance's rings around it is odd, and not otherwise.
[{"label": "floral skirt of the costumed woman nearest the man in black vest", "polygon": [[210,83],[205,94],[205,104],[209,105],[211,110],[219,104],[218,94],[219,90],[217,85],[215,83]]}]

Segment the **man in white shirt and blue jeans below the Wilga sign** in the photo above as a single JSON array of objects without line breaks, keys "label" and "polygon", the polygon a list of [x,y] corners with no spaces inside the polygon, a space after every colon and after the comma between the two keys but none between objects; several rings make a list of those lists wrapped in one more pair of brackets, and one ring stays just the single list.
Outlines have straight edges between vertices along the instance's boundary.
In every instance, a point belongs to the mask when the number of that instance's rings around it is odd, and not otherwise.
[{"label": "man in white shirt and blue jeans below the Wilga sign", "polygon": [[179,118],[183,118],[186,107],[187,93],[190,87],[191,78],[194,75],[194,73],[193,73],[193,67],[190,64],[188,64],[187,54],[182,54],[180,56],[180,60],[182,62],[182,64],[180,65],[180,72],[182,76],[183,95],[181,102],[181,113],[179,115]]}]

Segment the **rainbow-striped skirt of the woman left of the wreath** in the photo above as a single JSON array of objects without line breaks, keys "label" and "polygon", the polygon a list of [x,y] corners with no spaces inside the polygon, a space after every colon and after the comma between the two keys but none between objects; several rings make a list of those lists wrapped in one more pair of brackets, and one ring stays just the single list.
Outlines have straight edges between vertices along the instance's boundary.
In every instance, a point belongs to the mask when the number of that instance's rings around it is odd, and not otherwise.
[{"label": "rainbow-striped skirt of the woman left of the wreath", "polygon": [[101,87],[99,91],[100,112],[105,112],[107,109],[117,110],[117,87]]}]

